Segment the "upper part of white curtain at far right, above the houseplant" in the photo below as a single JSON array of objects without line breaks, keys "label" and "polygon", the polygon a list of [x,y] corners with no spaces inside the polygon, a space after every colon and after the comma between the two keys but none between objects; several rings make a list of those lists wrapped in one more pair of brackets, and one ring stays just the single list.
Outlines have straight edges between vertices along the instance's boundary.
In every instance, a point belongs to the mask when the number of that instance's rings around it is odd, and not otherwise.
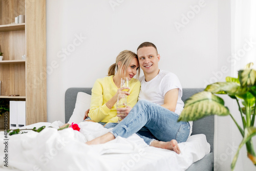
[{"label": "upper part of white curtain at far right, above the houseplant", "polygon": [[249,62],[256,68],[255,0],[231,0],[231,42],[234,76]]}]

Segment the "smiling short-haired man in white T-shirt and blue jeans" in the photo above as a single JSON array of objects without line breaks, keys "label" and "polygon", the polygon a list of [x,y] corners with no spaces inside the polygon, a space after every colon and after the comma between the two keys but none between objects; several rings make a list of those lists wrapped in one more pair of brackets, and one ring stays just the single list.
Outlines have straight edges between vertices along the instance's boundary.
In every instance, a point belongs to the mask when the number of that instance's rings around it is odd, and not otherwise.
[{"label": "smiling short-haired man in white T-shirt and blue jeans", "polygon": [[117,113],[124,115],[117,116],[123,120],[109,133],[87,144],[104,143],[117,136],[126,138],[137,133],[150,146],[180,154],[178,142],[186,141],[190,132],[188,122],[177,122],[184,105],[180,81],[175,74],[159,70],[160,55],[151,42],[143,42],[137,55],[144,72],[140,78],[139,101],[133,109],[118,109]]}]

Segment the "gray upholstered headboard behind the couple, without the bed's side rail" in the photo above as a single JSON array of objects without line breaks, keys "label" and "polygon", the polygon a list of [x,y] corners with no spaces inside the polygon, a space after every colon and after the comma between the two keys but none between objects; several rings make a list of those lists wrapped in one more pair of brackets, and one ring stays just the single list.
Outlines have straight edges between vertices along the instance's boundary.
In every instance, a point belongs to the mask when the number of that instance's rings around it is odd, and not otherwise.
[{"label": "gray upholstered headboard behind the couple, without the bed's side rail", "polygon": [[[65,122],[68,123],[69,118],[73,114],[78,92],[91,94],[92,88],[69,88],[65,93]],[[183,88],[182,100],[185,101],[191,95],[201,92],[204,89]],[[207,116],[193,122],[194,134],[206,135],[207,141],[210,144],[210,152],[214,152],[214,115]]]}]

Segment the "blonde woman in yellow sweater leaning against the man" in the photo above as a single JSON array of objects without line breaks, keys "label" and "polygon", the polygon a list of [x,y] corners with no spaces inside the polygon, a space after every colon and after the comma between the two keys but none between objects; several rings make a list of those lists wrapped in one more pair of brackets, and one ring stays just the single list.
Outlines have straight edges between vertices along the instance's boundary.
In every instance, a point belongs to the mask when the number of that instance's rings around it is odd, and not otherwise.
[{"label": "blonde woman in yellow sweater leaning against the man", "polygon": [[[140,81],[133,78],[138,69],[139,62],[135,53],[128,50],[120,52],[116,57],[116,62],[109,68],[108,77],[99,78],[94,83],[89,118],[86,120],[99,122],[102,125],[117,122],[115,103],[119,94],[126,94],[127,103],[133,107],[138,101],[140,91]],[[122,91],[127,88],[120,88],[122,77],[127,77],[130,80],[130,90],[128,92]]]}]

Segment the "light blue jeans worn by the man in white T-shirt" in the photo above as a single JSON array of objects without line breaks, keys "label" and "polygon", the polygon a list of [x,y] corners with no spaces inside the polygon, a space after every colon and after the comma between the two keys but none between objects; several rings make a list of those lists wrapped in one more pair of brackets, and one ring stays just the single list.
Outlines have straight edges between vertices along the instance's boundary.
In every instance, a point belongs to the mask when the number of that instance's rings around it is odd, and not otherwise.
[{"label": "light blue jeans worn by the man in white T-shirt", "polygon": [[189,135],[190,125],[188,122],[177,122],[178,118],[178,114],[158,104],[139,100],[129,115],[110,132],[115,137],[124,138],[138,133],[148,145],[155,139],[164,142],[172,139],[177,140],[178,143],[185,142]]}]

